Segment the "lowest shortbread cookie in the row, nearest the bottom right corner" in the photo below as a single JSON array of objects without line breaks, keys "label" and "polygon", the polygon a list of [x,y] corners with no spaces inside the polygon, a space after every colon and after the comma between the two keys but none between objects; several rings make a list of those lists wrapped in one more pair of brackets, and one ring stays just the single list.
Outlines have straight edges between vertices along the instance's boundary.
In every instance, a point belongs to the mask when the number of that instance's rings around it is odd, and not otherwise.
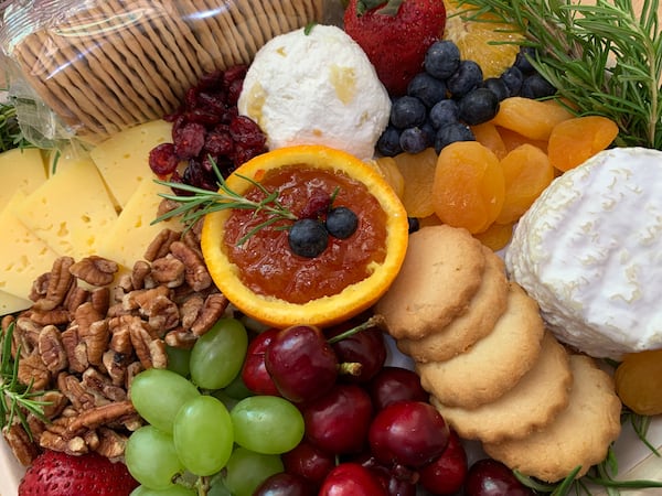
[{"label": "lowest shortbread cookie in the row, nearest the bottom right corner", "polygon": [[546,482],[560,481],[577,466],[581,466],[580,477],[605,460],[621,429],[621,402],[613,380],[584,355],[572,355],[570,368],[574,379],[568,407],[526,438],[484,443],[490,456]]}]

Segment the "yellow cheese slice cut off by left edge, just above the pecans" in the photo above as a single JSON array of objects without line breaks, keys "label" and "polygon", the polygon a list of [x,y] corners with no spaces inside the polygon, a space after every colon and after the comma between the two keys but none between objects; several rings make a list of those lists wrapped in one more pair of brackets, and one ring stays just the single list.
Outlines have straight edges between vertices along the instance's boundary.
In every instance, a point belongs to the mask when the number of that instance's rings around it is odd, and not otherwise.
[{"label": "yellow cheese slice cut off by left edge, just above the pecans", "polygon": [[[19,299],[26,299],[34,280],[50,272],[57,258],[49,246],[32,234],[14,215],[26,195],[17,191],[9,204],[0,212],[2,242],[0,244],[0,291]],[[4,304],[4,300],[1,300]],[[7,300],[9,305],[9,299]]]}]

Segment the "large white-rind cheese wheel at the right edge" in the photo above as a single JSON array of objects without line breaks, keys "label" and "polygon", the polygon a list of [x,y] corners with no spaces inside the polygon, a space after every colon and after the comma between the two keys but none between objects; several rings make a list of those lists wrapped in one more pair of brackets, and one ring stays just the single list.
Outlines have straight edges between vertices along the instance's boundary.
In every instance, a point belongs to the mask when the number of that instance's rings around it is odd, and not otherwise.
[{"label": "large white-rind cheese wheel at the right edge", "polygon": [[661,348],[662,152],[607,150],[556,179],[505,263],[560,341],[613,359]]}]

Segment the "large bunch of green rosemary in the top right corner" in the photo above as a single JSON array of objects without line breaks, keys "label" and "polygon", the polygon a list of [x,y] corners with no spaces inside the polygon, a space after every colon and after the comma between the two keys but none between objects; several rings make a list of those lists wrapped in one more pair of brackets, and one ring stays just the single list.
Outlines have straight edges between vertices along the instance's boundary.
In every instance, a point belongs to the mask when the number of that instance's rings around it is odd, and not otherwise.
[{"label": "large bunch of green rosemary in the top right corner", "polygon": [[[659,0],[460,0],[465,17],[490,12],[525,33],[532,64],[579,115],[615,120],[618,144],[662,148]],[[591,2],[587,2],[591,3]],[[480,20],[480,19],[479,19]]]}]

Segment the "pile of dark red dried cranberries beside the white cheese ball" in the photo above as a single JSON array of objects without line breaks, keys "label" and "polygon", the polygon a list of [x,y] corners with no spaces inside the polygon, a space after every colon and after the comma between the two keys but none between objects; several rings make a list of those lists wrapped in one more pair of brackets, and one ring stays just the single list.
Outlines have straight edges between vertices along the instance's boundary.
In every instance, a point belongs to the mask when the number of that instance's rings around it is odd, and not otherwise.
[{"label": "pile of dark red dried cranberries beside the white cheese ball", "polygon": [[[246,71],[247,66],[236,65],[204,75],[189,88],[181,107],[163,117],[172,122],[172,142],[151,150],[149,166],[154,174],[215,191],[212,163],[227,176],[266,151],[266,136],[259,126],[238,115]],[[175,193],[184,194],[181,190]]]}]

